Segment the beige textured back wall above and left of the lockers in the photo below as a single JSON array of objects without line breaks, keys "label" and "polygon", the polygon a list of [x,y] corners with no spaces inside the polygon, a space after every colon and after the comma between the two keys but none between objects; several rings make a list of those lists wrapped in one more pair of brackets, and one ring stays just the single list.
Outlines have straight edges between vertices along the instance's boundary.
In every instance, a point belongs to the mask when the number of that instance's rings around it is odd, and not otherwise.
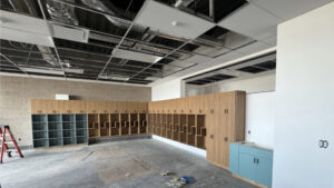
[{"label": "beige textured back wall above and left of the lockers", "polygon": [[9,125],[19,145],[30,146],[30,99],[55,99],[68,93],[80,100],[150,101],[150,87],[88,83],[0,76],[0,125]]}]

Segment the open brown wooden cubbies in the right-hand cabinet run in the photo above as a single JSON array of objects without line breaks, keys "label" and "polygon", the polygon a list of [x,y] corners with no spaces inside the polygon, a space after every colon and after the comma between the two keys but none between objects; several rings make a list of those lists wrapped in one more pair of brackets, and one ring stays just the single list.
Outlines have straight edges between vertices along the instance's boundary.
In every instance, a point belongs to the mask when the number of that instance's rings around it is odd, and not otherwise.
[{"label": "open brown wooden cubbies in the right-hand cabinet run", "polygon": [[149,113],[148,131],[175,141],[206,149],[205,115]]}]

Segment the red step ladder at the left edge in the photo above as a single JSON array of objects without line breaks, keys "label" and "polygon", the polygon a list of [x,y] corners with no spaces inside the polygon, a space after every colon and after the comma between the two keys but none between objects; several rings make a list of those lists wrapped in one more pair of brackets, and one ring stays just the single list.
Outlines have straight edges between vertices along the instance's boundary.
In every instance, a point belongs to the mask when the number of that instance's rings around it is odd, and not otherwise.
[{"label": "red step ladder at the left edge", "polygon": [[[6,140],[6,136],[9,136],[9,140]],[[14,139],[14,137],[12,136],[9,126],[0,126],[0,141],[1,141],[1,146],[0,146],[0,164],[2,164],[2,159],[3,159],[3,151],[6,151],[8,157],[11,157],[11,152],[18,152],[19,156],[21,158],[23,158],[23,155]],[[16,149],[9,149],[8,145],[13,145],[13,147]]]}]

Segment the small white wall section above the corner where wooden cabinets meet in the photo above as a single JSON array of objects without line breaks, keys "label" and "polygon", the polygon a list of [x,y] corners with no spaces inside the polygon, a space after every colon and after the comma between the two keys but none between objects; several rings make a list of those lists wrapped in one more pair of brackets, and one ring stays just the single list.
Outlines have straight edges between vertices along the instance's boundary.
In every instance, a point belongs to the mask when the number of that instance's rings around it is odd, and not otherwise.
[{"label": "small white wall section above the corner where wooden cabinets meet", "polygon": [[175,79],[151,87],[151,100],[175,99],[184,96],[184,81]]}]

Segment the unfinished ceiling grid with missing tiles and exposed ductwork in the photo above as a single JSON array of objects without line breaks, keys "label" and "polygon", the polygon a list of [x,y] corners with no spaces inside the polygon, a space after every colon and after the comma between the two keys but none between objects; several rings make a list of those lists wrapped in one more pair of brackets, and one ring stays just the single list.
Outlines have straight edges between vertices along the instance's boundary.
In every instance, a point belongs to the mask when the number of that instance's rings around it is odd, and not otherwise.
[{"label": "unfinished ceiling grid with missing tiles and exposed ductwork", "polygon": [[[277,23],[330,1],[3,0],[0,71],[148,85],[268,49]],[[271,63],[238,65],[202,82]]]}]

